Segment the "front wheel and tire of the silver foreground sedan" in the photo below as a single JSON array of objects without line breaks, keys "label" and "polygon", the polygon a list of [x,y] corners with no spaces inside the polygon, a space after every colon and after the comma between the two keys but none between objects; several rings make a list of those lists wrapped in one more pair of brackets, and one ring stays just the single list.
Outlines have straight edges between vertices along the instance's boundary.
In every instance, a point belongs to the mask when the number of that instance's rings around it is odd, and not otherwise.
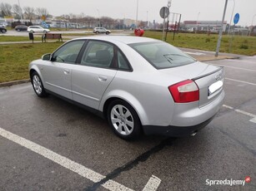
[{"label": "front wheel and tire of the silver foreground sedan", "polygon": [[31,83],[33,85],[33,90],[37,94],[38,97],[46,97],[48,94],[46,93],[44,87],[43,87],[43,82],[38,75],[38,72],[34,71],[31,75]]}]

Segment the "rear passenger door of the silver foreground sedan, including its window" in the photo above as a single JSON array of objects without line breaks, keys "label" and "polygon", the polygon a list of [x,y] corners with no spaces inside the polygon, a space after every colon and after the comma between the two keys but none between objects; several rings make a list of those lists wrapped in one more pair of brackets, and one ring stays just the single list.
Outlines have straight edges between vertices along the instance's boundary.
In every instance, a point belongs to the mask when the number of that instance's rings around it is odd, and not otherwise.
[{"label": "rear passenger door of the silver foreground sedan, including its window", "polygon": [[108,42],[89,41],[73,67],[73,100],[98,110],[100,100],[117,73],[114,46]]}]

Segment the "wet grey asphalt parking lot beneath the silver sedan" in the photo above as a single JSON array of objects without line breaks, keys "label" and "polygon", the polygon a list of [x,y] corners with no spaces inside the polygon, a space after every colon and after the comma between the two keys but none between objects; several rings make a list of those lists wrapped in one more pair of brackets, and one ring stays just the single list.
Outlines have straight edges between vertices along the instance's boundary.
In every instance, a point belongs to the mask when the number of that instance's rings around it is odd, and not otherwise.
[{"label": "wet grey asphalt parking lot beneath the silver sedan", "polygon": [[193,137],[120,140],[106,120],[38,98],[29,83],[0,88],[0,188],[256,190],[256,57],[210,63],[225,67],[225,101]]}]

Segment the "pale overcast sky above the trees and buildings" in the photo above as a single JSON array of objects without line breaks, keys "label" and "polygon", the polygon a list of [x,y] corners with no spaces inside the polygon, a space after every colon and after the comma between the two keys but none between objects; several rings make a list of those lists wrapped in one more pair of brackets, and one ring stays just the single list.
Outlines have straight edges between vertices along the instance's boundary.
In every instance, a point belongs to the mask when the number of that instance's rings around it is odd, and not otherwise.
[{"label": "pale overcast sky above the trees and buildings", "polygon": [[[83,14],[92,17],[113,17],[136,19],[138,1],[138,20],[163,22],[159,10],[167,6],[168,0],[19,0],[21,7],[45,7],[53,16],[62,14]],[[228,0],[225,21],[230,22],[233,5],[233,15],[238,12],[238,25],[249,26],[256,14],[256,0]],[[0,0],[11,5],[18,0]],[[221,21],[225,0],[172,0],[170,12],[182,14],[182,21]],[[173,18],[171,18],[173,20]],[[174,18],[175,20],[175,18]],[[233,22],[232,22],[233,23]],[[256,25],[256,17],[253,24]]]}]

